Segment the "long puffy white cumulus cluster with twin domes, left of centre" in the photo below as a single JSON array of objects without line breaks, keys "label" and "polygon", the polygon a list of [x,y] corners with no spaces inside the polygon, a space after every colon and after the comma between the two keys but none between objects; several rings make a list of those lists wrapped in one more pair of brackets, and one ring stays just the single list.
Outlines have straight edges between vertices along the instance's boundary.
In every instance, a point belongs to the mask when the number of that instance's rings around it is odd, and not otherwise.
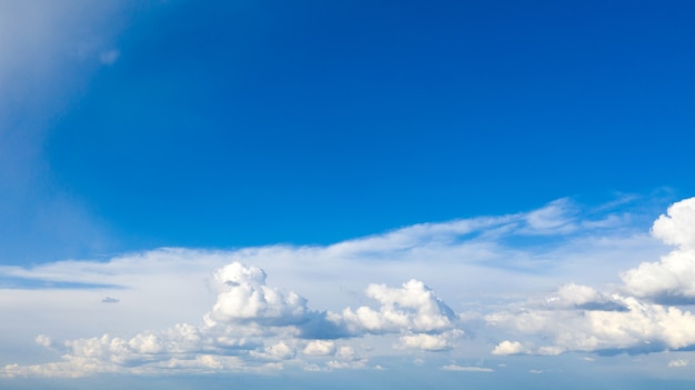
[{"label": "long puffy white cumulus cluster with twin domes, left of centre", "polygon": [[305,370],[363,368],[369,360],[341,339],[393,333],[394,347],[443,350],[462,332],[455,316],[424,283],[411,280],[402,288],[371,284],[366,293],[379,310],[361,307],[342,314],[308,308],[293,291],[266,286],[258,267],[233,262],[213,274],[218,298],[200,326],[180,323],[159,332],[119,338],[68,340],[58,346],[48,336],[36,342],[60,349],[56,363],[10,364],[0,376],[79,377],[105,372],[209,372],[274,370],[285,364]]}]

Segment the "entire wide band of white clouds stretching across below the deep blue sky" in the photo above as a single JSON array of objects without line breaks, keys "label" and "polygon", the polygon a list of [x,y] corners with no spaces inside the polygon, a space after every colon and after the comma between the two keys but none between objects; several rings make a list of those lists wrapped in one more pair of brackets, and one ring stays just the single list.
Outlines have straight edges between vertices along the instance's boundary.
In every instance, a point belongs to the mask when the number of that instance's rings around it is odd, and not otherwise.
[{"label": "entire wide band of white clouds stretching across below the deep blue sky", "polygon": [[[0,269],[4,277],[120,286],[119,304],[100,306],[105,316],[115,316],[109,314],[113,310],[154,310],[158,304],[164,310],[167,303],[162,302],[171,302],[171,313],[183,321],[170,322],[159,331],[109,332],[64,342],[41,332],[33,336],[36,343],[60,359],[43,364],[9,363],[0,373],[79,377],[168,370],[376,368],[381,367],[372,361],[376,354],[416,352],[434,360],[443,353],[462,357],[476,338],[488,340],[484,354],[498,359],[571,351],[683,350],[695,346],[695,316],[662,298],[691,297],[688,280],[674,276],[687,276],[695,263],[694,204],[695,198],[677,202],[654,223],[654,238],[675,248],[658,262],[635,267],[632,260],[633,268],[626,267],[622,273],[624,284],[613,287],[577,282],[584,276],[575,270],[591,266],[592,272],[605,272],[608,268],[600,266],[616,250],[636,257],[644,254],[645,248],[656,253],[663,247],[645,234],[626,233],[616,214],[583,219],[567,200],[528,213],[420,224],[328,247],[162,249],[107,263],[4,267]],[[542,237],[544,241],[525,247],[508,243],[520,237]],[[581,257],[576,248],[583,248]],[[551,256],[555,268],[548,269]],[[204,283],[210,269],[216,271]],[[273,283],[268,282],[266,270],[273,271]],[[188,296],[181,290],[191,278],[200,278],[208,292],[187,307]],[[542,293],[544,286],[558,278],[568,280],[544,297],[505,298],[502,304],[479,299],[472,309],[471,294],[496,289],[495,297],[502,298],[528,288]],[[497,284],[483,290],[476,284],[479,279]],[[436,293],[429,286],[435,287]],[[22,291],[16,290],[20,302],[29,299]],[[88,290],[79,292],[87,294]],[[95,302],[104,302],[104,291],[93,294]],[[144,301],[132,303],[138,300]],[[200,304],[205,300],[210,302],[207,308]],[[198,321],[190,316],[194,310]],[[492,372],[451,362],[440,367]]]}]

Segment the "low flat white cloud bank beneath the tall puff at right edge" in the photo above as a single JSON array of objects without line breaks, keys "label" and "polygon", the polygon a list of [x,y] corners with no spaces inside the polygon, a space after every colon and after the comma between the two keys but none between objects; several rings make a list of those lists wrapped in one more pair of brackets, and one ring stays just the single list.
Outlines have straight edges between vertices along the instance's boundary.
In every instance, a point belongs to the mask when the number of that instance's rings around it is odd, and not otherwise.
[{"label": "low flat white cloud bank beneath the tall puff at right edge", "polygon": [[493,354],[558,354],[565,351],[628,350],[651,352],[695,344],[695,316],[675,307],[642,302],[634,297],[614,296],[621,310],[526,309],[486,317],[493,327],[522,334],[540,336],[551,344],[535,347],[503,341]]}]

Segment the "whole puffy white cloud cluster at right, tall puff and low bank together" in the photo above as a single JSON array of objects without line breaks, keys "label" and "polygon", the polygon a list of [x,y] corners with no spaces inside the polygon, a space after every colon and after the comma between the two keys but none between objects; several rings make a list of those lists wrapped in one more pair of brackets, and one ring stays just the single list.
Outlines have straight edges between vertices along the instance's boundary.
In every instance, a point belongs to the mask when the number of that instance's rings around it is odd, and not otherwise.
[{"label": "whole puffy white cloud cluster at right, tall puff and low bank together", "polygon": [[620,289],[627,293],[570,283],[542,302],[487,314],[488,326],[526,340],[504,340],[492,353],[652,352],[695,346],[695,316],[672,306],[695,299],[695,198],[668,208],[652,233],[676,248],[658,262],[623,273]]}]

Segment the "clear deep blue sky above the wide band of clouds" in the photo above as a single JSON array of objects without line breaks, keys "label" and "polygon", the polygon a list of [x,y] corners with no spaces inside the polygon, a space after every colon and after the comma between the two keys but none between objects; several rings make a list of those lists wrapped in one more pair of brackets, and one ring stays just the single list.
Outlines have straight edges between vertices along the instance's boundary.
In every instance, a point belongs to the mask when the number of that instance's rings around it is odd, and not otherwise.
[{"label": "clear deep blue sky above the wide band of clouds", "polygon": [[689,1],[172,1],[50,132],[119,249],[695,192]]}]

